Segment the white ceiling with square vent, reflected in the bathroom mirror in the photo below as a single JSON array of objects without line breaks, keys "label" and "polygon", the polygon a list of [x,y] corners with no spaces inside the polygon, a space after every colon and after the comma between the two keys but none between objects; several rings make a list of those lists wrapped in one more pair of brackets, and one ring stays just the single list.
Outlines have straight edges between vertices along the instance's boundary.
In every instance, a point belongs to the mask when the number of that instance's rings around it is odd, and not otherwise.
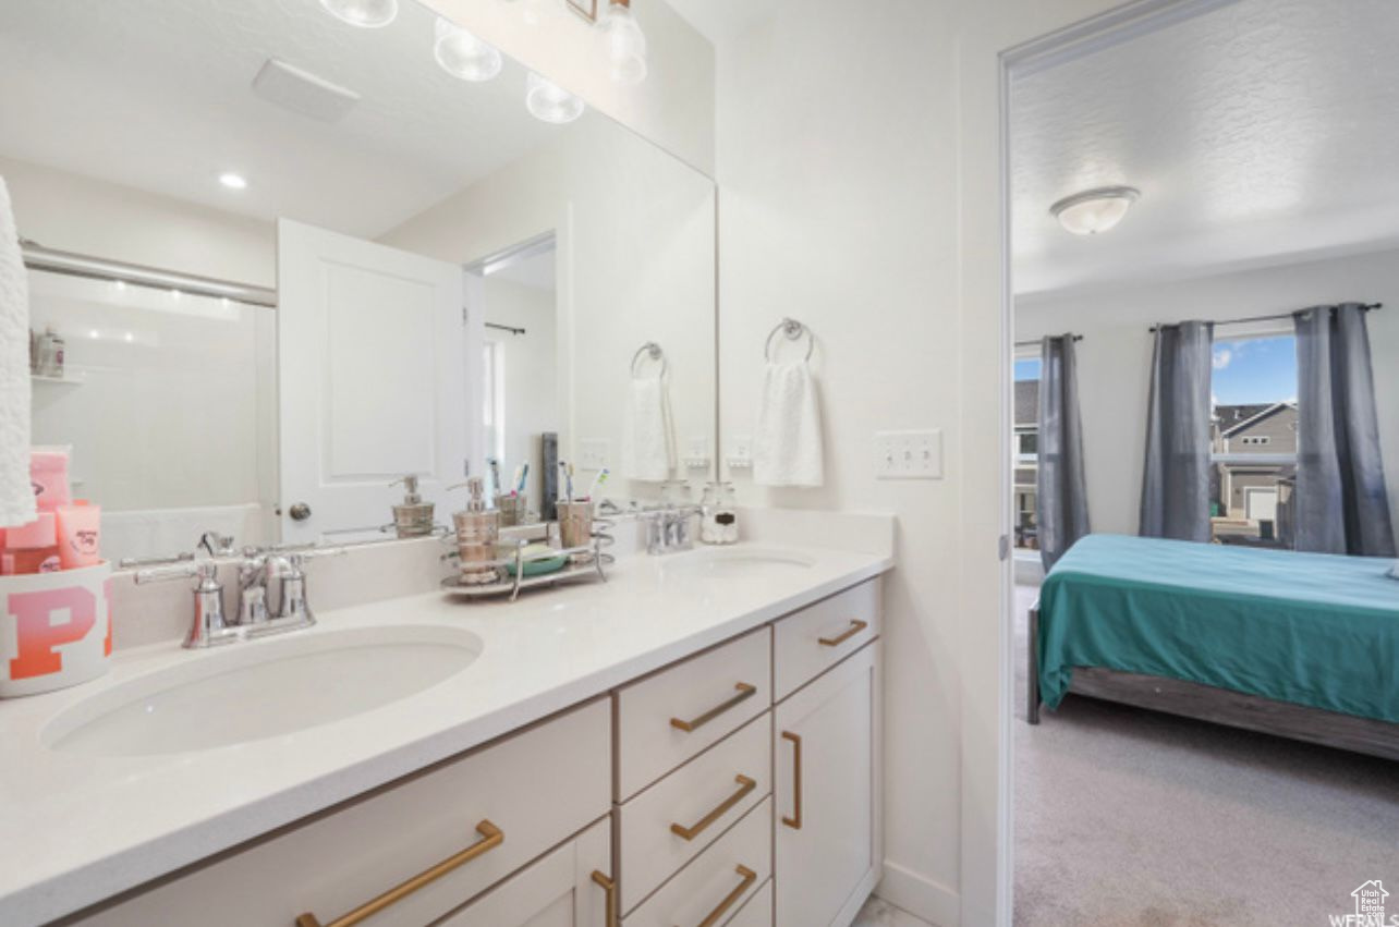
[{"label": "white ceiling with square vent, reflected in the bathroom mirror", "polygon": [[[358,29],[316,0],[4,0],[0,155],[375,236],[568,131],[529,116],[513,62],[443,73],[434,22],[411,1]],[[250,89],[269,57],[362,99],[336,124],[281,109]]]}]

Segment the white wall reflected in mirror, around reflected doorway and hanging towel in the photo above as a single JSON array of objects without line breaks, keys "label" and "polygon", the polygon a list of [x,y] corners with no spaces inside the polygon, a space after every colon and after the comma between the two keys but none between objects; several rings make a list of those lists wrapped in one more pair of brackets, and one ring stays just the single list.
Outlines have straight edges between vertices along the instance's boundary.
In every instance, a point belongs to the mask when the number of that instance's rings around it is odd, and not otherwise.
[{"label": "white wall reflected in mirror, around reflected doorway and hanging towel", "polygon": [[[713,183],[592,119],[381,240],[469,264],[548,232],[558,254],[560,456],[575,459],[578,440],[603,439],[616,495],[655,495],[621,478],[620,410],[632,355],[656,341],[670,361],[681,450],[690,436],[713,443]],[[698,482],[705,471],[688,477]]]}]

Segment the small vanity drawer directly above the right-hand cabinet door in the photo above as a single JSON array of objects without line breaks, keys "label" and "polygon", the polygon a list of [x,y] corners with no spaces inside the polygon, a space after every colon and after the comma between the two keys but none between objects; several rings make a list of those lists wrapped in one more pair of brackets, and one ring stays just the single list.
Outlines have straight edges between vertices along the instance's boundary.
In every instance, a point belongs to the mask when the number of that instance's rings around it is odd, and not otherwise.
[{"label": "small vanity drawer directly above the right-hand cabinet door", "polygon": [[877,636],[879,605],[880,580],[872,579],[778,621],[772,631],[774,700],[781,702]]}]

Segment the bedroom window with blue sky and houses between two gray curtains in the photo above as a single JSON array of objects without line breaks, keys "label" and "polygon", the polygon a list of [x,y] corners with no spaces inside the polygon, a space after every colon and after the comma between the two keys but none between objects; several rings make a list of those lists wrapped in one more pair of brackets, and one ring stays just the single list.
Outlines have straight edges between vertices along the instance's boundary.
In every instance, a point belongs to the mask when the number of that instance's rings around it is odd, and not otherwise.
[{"label": "bedroom window with blue sky and houses between two gray curtains", "polygon": [[1297,340],[1216,338],[1210,522],[1214,540],[1291,547],[1297,477]]}]

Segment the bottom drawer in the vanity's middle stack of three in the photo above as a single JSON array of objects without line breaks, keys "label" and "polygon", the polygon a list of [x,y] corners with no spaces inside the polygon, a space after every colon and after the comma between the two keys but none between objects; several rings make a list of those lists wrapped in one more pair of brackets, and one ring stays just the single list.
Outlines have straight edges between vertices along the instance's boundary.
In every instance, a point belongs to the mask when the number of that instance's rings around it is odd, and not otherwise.
[{"label": "bottom drawer in the vanity's middle stack of three", "polygon": [[623,927],[723,924],[757,895],[772,868],[772,798],[748,812],[623,920]]}]

